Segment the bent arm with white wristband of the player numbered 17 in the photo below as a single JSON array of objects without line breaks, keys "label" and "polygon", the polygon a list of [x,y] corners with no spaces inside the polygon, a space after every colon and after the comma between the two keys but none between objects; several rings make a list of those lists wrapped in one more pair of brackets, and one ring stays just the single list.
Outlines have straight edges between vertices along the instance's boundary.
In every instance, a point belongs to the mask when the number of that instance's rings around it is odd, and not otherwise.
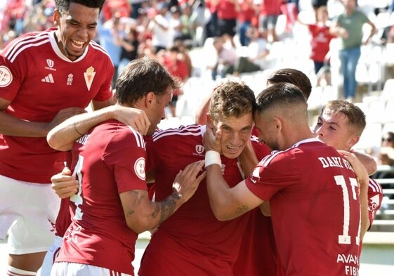
[{"label": "bent arm with white wristband of the player numbered 17", "polygon": [[228,221],[261,205],[263,200],[247,188],[245,180],[233,188],[228,186],[221,171],[220,139],[221,131],[216,131],[215,137],[212,129],[207,126],[204,133],[206,189],[216,218]]}]

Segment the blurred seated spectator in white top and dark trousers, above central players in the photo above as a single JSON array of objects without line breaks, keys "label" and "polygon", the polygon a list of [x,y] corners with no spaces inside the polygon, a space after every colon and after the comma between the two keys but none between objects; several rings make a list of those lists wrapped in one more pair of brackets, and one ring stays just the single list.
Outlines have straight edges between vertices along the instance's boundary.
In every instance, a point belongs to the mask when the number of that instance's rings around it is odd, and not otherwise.
[{"label": "blurred seated spectator in white top and dark trousers, above central players", "polygon": [[250,43],[245,51],[247,55],[237,59],[233,73],[235,76],[242,73],[263,70],[266,64],[265,57],[270,53],[267,41],[259,36],[258,27],[249,27],[247,37],[250,39]]}]

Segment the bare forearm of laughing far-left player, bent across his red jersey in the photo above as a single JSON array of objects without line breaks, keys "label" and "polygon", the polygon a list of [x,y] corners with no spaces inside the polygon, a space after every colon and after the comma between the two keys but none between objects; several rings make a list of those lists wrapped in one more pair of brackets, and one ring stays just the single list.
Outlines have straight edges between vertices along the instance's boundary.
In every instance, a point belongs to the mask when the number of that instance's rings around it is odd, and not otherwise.
[{"label": "bare forearm of laughing far-left player, bent across his red jersey", "polygon": [[11,101],[0,98],[0,133],[7,136],[45,137],[48,131],[60,124],[60,122],[75,114],[85,112],[85,110],[78,107],[69,107],[60,110],[50,122],[27,121],[4,112],[10,104]]}]

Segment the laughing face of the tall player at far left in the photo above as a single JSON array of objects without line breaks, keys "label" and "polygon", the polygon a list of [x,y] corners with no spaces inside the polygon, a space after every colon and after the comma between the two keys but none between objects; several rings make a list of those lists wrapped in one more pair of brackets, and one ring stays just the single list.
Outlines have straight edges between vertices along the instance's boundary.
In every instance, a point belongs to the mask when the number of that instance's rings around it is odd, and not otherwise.
[{"label": "laughing face of the tall player at far left", "polygon": [[58,25],[56,38],[60,51],[70,60],[77,60],[88,43],[96,37],[99,8],[88,8],[71,3],[68,13],[53,13]]}]

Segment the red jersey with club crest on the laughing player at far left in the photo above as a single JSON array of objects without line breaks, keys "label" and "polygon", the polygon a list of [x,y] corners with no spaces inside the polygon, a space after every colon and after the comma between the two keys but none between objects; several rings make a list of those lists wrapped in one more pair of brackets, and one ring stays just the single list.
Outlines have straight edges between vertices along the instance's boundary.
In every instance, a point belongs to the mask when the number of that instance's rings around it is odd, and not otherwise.
[{"label": "red jersey with club crest on the laughing player at far left", "polygon": [[[27,121],[52,121],[63,108],[108,100],[113,72],[109,55],[94,41],[71,61],[60,52],[54,29],[22,35],[0,53],[0,98],[11,101],[4,112]],[[3,176],[51,183],[63,162],[65,152],[49,147],[46,137],[0,134]]]}]

